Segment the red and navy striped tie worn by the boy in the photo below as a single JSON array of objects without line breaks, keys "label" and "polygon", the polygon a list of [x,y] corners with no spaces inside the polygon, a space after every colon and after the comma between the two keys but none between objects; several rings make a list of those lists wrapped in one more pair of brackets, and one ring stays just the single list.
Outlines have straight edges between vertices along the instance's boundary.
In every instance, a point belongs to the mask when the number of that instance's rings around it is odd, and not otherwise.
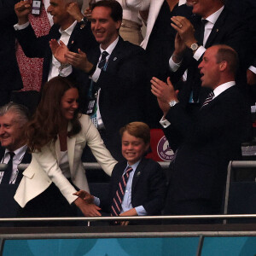
[{"label": "red and navy striped tie worn by the boy", "polygon": [[130,176],[130,172],[132,172],[132,168],[131,166],[128,166],[127,170],[125,171],[125,174],[121,177],[118,189],[116,190],[116,193],[113,197],[113,203],[111,206],[111,216],[119,216],[119,213],[121,212],[121,205],[125,195],[125,187]]}]

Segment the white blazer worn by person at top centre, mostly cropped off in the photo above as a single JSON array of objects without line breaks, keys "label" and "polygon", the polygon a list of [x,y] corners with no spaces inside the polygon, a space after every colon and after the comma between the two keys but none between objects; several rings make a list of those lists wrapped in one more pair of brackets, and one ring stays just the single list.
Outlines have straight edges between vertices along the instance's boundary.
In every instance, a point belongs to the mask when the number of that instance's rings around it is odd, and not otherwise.
[{"label": "white blazer worn by person at top centre, mostly cropped off", "polygon": [[[155,20],[157,19],[160,9],[162,7],[162,4],[164,2],[165,0],[126,0],[127,6],[133,9],[138,9],[138,10],[145,10],[147,9],[147,7],[149,7],[149,4],[150,4],[149,11],[148,11],[146,35],[141,44],[141,47],[143,47],[143,49],[147,48],[148,39],[153,30]],[[178,5],[182,5],[186,2],[187,2],[186,0],[179,0]],[[171,20],[170,20],[170,26],[171,26]]]}]

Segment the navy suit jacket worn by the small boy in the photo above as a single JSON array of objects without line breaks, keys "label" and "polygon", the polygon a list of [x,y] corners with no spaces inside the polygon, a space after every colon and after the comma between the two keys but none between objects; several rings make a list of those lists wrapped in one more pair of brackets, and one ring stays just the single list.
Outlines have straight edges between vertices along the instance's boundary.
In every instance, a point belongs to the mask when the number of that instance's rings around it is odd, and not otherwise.
[{"label": "navy suit jacket worn by the small boy", "polygon": [[[113,168],[110,179],[108,201],[101,201],[103,210],[110,212],[113,197],[119,181],[125,172],[127,161],[121,161]],[[134,173],[131,185],[132,207],[143,206],[148,215],[160,214],[166,198],[166,177],[160,165],[154,160],[143,158]]]}]

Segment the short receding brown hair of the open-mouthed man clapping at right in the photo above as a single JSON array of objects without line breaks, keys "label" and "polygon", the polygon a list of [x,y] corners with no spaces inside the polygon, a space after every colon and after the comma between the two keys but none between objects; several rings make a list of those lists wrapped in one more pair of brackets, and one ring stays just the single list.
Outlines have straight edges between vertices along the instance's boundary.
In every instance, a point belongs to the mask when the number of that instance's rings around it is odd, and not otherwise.
[{"label": "short receding brown hair of the open-mouthed man clapping at right", "polygon": [[238,69],[238,55],[236,50],[225,44],[218,44],[215,46],[218,46],[218,51],[216,54],[217,63],[226,61],[228,63],[230,73],[235,74]]}]

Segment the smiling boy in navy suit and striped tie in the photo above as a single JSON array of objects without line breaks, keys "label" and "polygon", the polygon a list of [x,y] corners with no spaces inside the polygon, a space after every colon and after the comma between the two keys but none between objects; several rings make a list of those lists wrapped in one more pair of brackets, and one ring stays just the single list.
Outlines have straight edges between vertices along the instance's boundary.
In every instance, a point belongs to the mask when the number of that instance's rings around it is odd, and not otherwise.
[{"label": "smiling boy in navy suit and striped tie", "polygon": [[[122,154],[113,168],[108,201],[100,200],[85,191],[79,195],[96,203],[112,216],[143,216],[160,214],[166,195],[166,178],[160,165],[144,158],[150,143],[150,129],[143,122],[132,122],[120,129]],[[128,224],[128,222],[121,222]]]}]

